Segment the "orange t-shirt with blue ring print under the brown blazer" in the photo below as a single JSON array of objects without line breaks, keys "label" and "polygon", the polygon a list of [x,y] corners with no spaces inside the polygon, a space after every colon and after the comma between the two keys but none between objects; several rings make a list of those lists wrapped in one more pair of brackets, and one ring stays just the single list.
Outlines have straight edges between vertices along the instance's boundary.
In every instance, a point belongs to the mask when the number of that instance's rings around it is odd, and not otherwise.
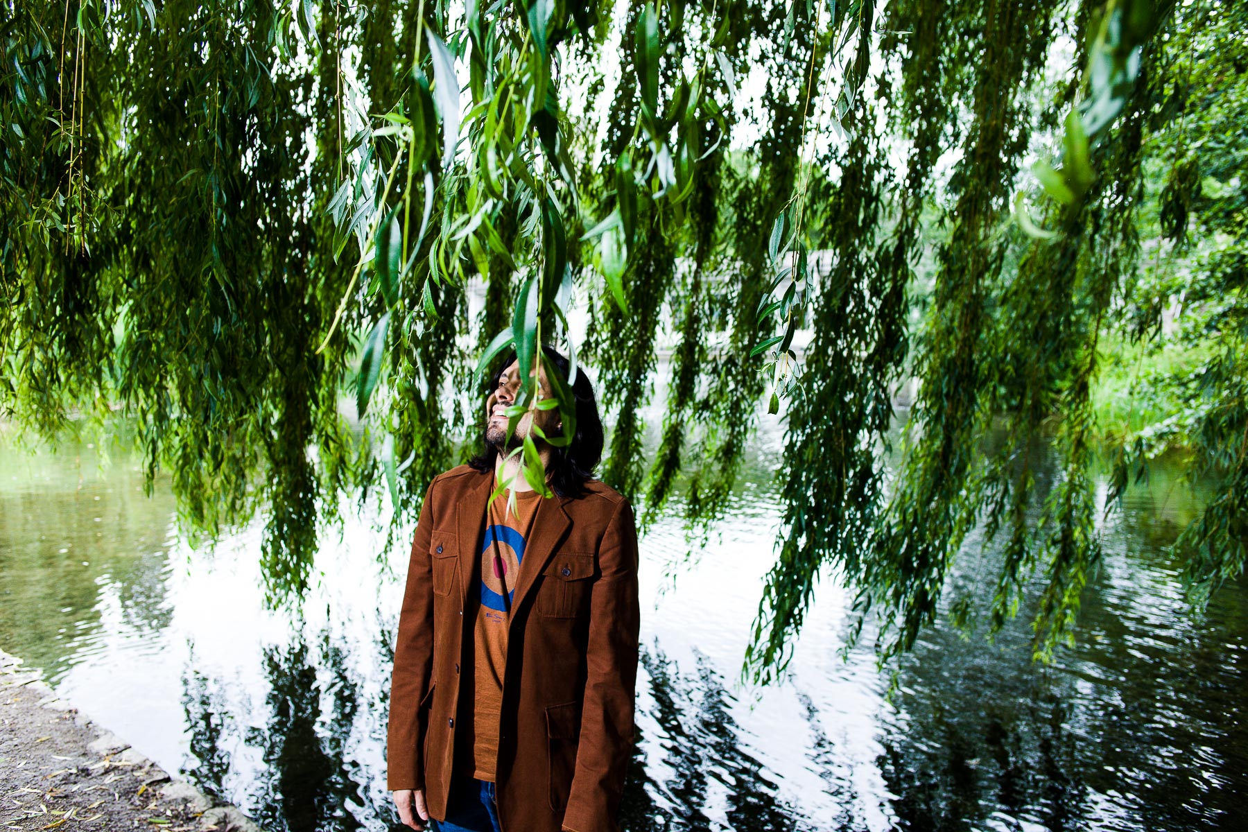
[{"label": "orange t-shirt with blue ring print under the brown blazer", "polygon": [[456,768],[477,780],[494,780],[494,762],[498,760],[498,723],[503,706],[503,670],[507,666],[507,626],[510,621],[512,599],[515,593],[520,563],[524,560],[524,541],[533,528],[537,514],[538,491],[517,491],[515,513],[507,510],[507,491],[494,498],[485,516],[485,534],[482,539],[480,561],[472,589],[468,593],[473,610],[473,670],[463,681],[461,701],[472,704],[472,713],[462,720],[459,732],[463,742],[463,761],[456,755]]}]

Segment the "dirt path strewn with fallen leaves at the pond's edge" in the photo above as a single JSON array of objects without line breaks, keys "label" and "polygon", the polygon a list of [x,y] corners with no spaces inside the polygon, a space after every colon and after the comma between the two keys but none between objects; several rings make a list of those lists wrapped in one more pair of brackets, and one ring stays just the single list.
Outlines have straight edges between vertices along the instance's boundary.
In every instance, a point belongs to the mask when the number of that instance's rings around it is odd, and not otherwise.
[{"label": "dirt path strewn with fallen leaves at the pond's edge", "polygon": [[260,832],[95,725],[0,651],[0,830]]}]

